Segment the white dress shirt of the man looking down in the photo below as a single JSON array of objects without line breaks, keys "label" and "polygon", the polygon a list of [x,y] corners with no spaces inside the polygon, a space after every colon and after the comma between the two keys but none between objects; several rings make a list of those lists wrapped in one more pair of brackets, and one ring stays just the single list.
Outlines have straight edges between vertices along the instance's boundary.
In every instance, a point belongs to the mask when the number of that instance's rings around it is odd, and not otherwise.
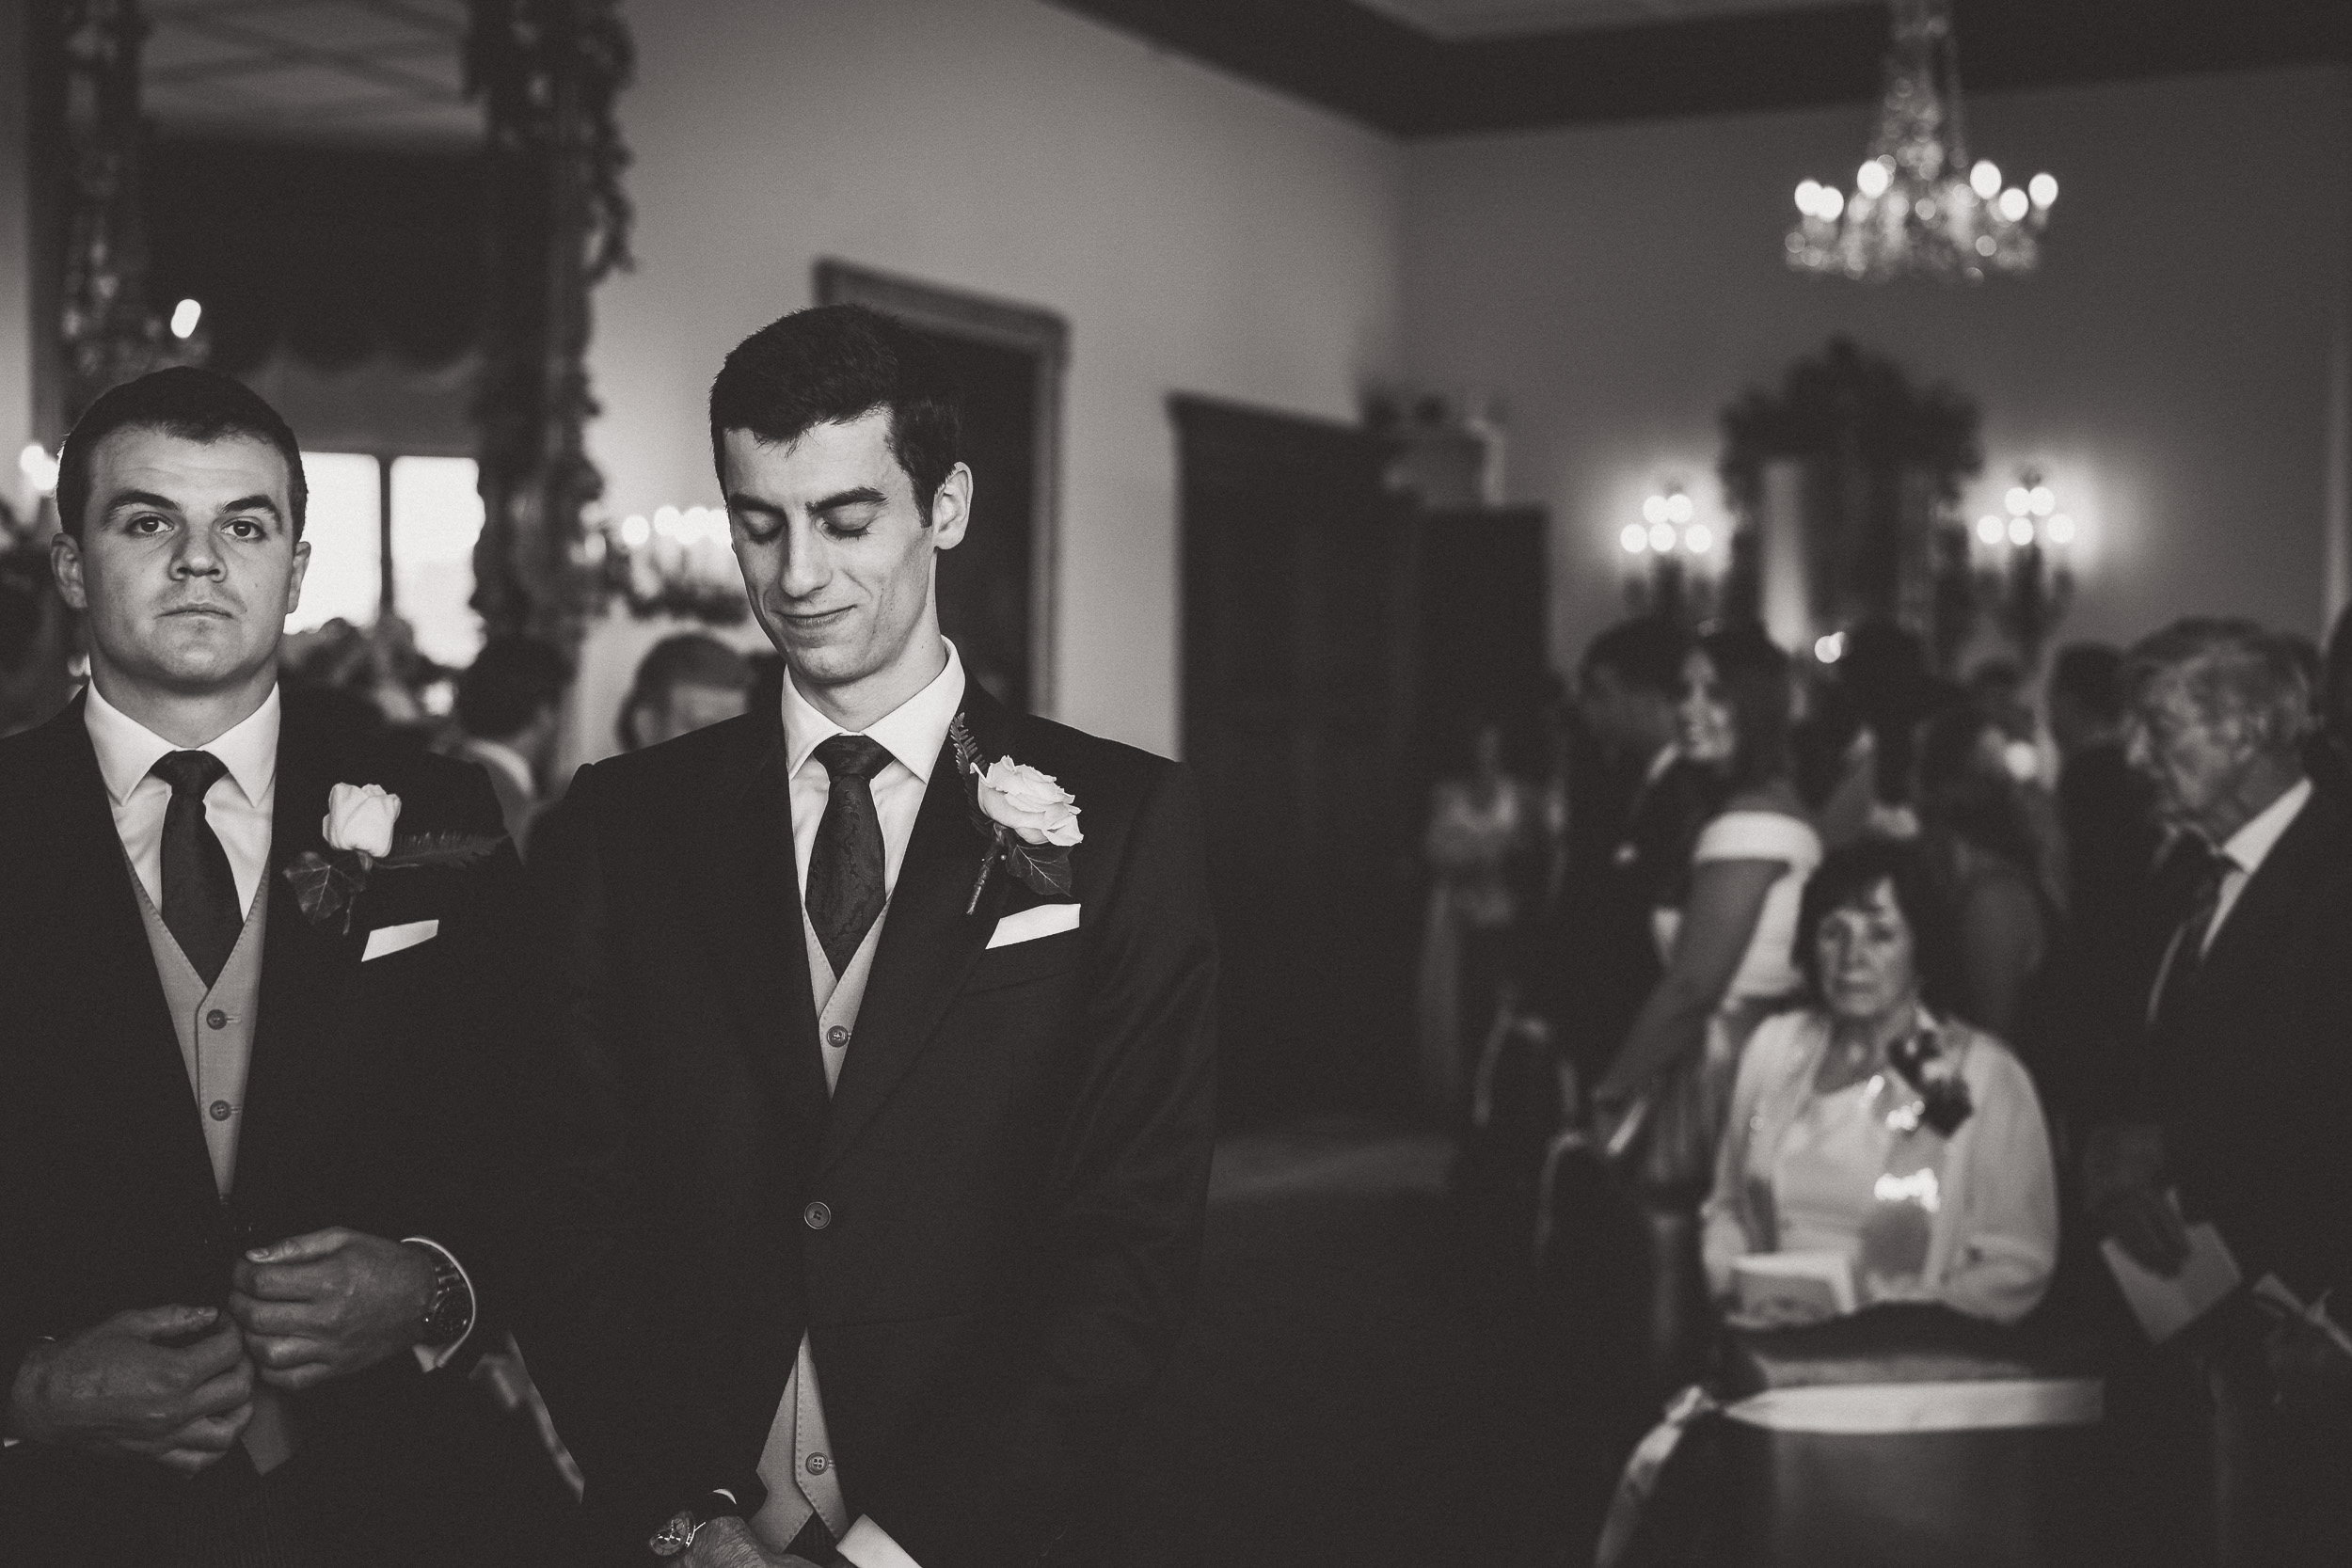
[{"label": "white dress shirt of the man looking down", "polygon": [[[915,818],[922,813],[922,797],[931,788],[931,769],[938,766],[938,752],[948,743],[948,726],[955,724],[955,715],[964,705],[964,661],[957,656],[955,644],[948,644],[948,663],[941,668],[931,684],[898,703],[887,717],[875,719],[866,726],[866,738],[882,745],[889,752],[889,762],[882,771],[873,776],[870,790],[875,802],[875,818],[882,825],[882,914],[875,919],[880,926],[889,919],[889,896],[898,889],[898,867],[906,865],[908,839],[915,837]],[[809,896],[809,856],[816,849],[816,825],[826,816],[826,799],[833,795],[833,776],[826,773],[826,764],[816,759],[816,748],[833,736],[851,733],[840,724],[816,712],[793,677],[783,679],[783,757],[786,778],[790,780],[793,795],[793,870],[800,877],[800,896]],[[809,973],[816,1009],[823,1011],[833,992],[835,978],[830,973]],[[828,1058],[835,1053],[847,1053],[847,1044],[835,1046],[830,1039],[823,1051]],[[840,1074],[840,1060],[826,1063],[828,1081]],[[807,1378],[811,1385],[802,1389],[800,1382]],[[814,1389],[816,1363],[809,1356],[807,1335],[802,1335],[800,1361],[793,1371],[793,1380],[783,1392],[786,1401],[811,1394],[809,1403],[818,1410],[823,1408],[823,1396]],[[917,1568],[915,1559],[889,1537],[889,1530],[877,1526],[873,1519],[856,1519],[840,1540],[840,1554],[847,1556],[856,1568]]]}]

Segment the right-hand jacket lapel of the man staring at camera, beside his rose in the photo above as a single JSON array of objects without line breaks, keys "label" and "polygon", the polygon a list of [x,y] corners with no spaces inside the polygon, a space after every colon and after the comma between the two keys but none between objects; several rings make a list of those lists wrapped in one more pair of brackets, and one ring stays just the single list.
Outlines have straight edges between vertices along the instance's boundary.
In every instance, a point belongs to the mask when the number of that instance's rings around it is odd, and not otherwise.
[{"label": "right-hand jacket lapel of the man staring at camera, beside his rose", "polygon": [[[294,903],[285,867],[294,856],[327,846],[327,788],[336,783],[334,757],[287,715],[278,733],[278,802],[270,809],[268,926],[261,945],[261,1001],[254,1051],[245,1072],[245,1126],[238,1133],[235,1197],[252,1206],[292,1161],[303,1128],[327,1128],[327,1105],[343,1070],[346,1034],[336,999],[360,966],[367,933],[334,922],[313,924]],[[341,783],[374,783],[343,778]],[[365,900],[365,896],[362,896]]]}]

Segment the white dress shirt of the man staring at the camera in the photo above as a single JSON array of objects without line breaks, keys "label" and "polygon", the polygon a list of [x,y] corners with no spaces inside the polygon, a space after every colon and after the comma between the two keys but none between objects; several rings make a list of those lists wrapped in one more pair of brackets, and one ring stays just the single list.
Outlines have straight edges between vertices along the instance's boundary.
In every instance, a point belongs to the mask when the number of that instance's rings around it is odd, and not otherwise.
[{"label": "white dress shirt of the man staring at the camera", "polygon": [[[270,867],[270,813],[278,811],[278,729],[282,708],[278,686],[261,698],[261,708],[230,724],[205,745],[172,745],[153,729],[129,717],[106,701],[99,682],[89,682],[82,703],[82,726],[89,731],[89,748],[99,755],[99,778],[106,783],[106,802],[115,811],[115,837],[122,853],[146,889],[148,903],[162,910],[162,818],[172,809],[172,785],[153,773],[160,757],[169,752],[212,752],[228,771],[205,790],[205,820],[212,837],[228,856],[228,875],[238,884],[238,917],[254,912],[254,893]],[[367,780],[353,780],[367,783]],[[292,910],[292,905],[287,905]],[[466,1265],[430,1237],[402,1237],[419,1241],[449,1260],[466,1279],[468,1295],[473,1279]],[[473,1338],[473,1324],[452,1345],[428,1349],[412,1347],[423,1371],[440,1371]]]}]

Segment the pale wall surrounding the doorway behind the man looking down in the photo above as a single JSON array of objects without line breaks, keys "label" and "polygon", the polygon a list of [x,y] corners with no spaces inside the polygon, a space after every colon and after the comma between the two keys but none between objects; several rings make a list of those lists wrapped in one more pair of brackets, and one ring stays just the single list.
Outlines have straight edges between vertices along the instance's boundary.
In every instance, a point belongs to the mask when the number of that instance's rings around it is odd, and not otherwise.
[{"label": "pale wall surrounding the doorway behind the man looking down", "polygon": [[[1178,733],[1174,390],[1352,416],[1395,371],[1402,153],[1040,0],[635,0],[637,270],[595,301],[616,512],[717,501],[724,353],[837,256],[1058,310],[1056,717]],[[985,487],[988,475],[978,475]]]}]

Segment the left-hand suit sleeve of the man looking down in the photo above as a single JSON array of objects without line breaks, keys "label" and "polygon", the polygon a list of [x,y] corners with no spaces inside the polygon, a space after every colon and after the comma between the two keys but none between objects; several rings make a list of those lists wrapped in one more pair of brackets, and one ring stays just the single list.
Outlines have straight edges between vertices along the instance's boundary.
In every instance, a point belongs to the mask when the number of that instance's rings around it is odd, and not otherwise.
[{"label": "left-hand suit sleeve of the man looking down", "polygon": [[586,1505],[604,1544],[616,1561],[654,1561],[642,1542],[677,1507],[727,1488],[753,1512],[764,1490],[755,1469],[736,1474],[708,1453],[708,1422],[682,1408],[668,1338],[647,1328],[663,1248],[630,1135],[630,1032],[614,983],[600,785],[593,766],[581,769],[532,844],[529,924],[548,1020],[532,1095],[534,1178],[513,1244],[515,1335],[588,1476]]}]

